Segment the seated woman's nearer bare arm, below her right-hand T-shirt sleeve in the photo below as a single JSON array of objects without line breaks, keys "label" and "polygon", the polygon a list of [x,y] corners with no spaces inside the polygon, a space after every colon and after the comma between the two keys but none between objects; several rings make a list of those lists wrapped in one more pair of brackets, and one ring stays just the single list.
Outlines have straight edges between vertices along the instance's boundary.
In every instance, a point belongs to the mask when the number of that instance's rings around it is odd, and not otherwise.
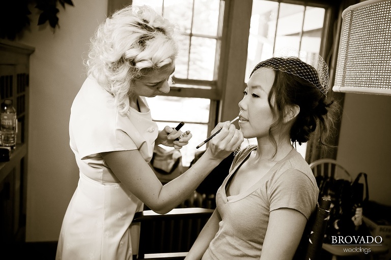
[{"label": "seated woman's nearer bare arm, below her right-hand T-shirt sleeve", "polygon": [[299,245],[307,219],[294,209],[270,212],[261,259],[291,260]]}]

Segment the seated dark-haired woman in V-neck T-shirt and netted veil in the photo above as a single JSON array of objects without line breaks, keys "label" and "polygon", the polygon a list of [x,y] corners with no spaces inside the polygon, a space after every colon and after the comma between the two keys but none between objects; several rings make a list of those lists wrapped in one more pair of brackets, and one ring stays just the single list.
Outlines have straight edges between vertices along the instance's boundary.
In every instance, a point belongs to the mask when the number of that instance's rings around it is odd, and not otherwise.
[{"label": "seated dark-haired woman in V-neck T-shirt and netted veil", "polygon": [[235,156],[186,260],[292,259],[319,193],[293,144],[308,141],[316,128],[325,144],[336,106],[326,101],[327,75],[325,63],[317,71],[297,57],[273,57],[254,68],[239,125],[258,145]]}]

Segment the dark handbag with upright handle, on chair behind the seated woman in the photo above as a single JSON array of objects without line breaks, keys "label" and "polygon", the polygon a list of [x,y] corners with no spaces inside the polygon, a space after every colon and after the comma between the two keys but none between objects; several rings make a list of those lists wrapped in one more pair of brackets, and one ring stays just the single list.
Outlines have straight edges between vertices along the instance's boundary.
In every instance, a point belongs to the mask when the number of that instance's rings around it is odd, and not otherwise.
[{"label": "dark handbag with upright handle, on chair behind the seated woman", "polygon": [[[365,183],[360,183],[364,177]],[[369,236],[370,231],[362,221],[362,208],[369,201],[368,176],[359,173],[354,181],[325,177],[320,182],[319,193],[331,200],[330,219],[326,226],[325,243],[332,237]],[[321,194],[322,192],[322,194]],[[365,194],[365,198],[364,198]]]}]

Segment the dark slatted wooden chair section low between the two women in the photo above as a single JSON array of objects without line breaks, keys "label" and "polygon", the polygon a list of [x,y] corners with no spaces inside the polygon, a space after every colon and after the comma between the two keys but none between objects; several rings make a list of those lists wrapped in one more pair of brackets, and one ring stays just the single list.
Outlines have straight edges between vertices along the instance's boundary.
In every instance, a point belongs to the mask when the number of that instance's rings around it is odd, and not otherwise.
[{"label": "dark slatted wooden chair section low between the two women", "polygon": [[213,211],[177,208],[163,215],[152,210],[137,212],[132,223],[140,225],[139,243],[133,247],[133,259],[184,259]]}]

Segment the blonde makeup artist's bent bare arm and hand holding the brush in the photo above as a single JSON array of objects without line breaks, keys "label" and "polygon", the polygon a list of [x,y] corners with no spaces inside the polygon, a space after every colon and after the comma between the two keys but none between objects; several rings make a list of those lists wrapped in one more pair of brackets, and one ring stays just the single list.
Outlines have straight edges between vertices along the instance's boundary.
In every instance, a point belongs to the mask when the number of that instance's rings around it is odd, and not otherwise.
[{"label": "blonde makeup artist's bent bare arm and hand holding the brush", "polygon": [[189,170],[162,186],[138,150],[102,153],[105,163],[138,199],[157,213],[165,214],[190,196],[205,177],[243,141],[243,134],[229,122],[220,129],[207,151]]}]

